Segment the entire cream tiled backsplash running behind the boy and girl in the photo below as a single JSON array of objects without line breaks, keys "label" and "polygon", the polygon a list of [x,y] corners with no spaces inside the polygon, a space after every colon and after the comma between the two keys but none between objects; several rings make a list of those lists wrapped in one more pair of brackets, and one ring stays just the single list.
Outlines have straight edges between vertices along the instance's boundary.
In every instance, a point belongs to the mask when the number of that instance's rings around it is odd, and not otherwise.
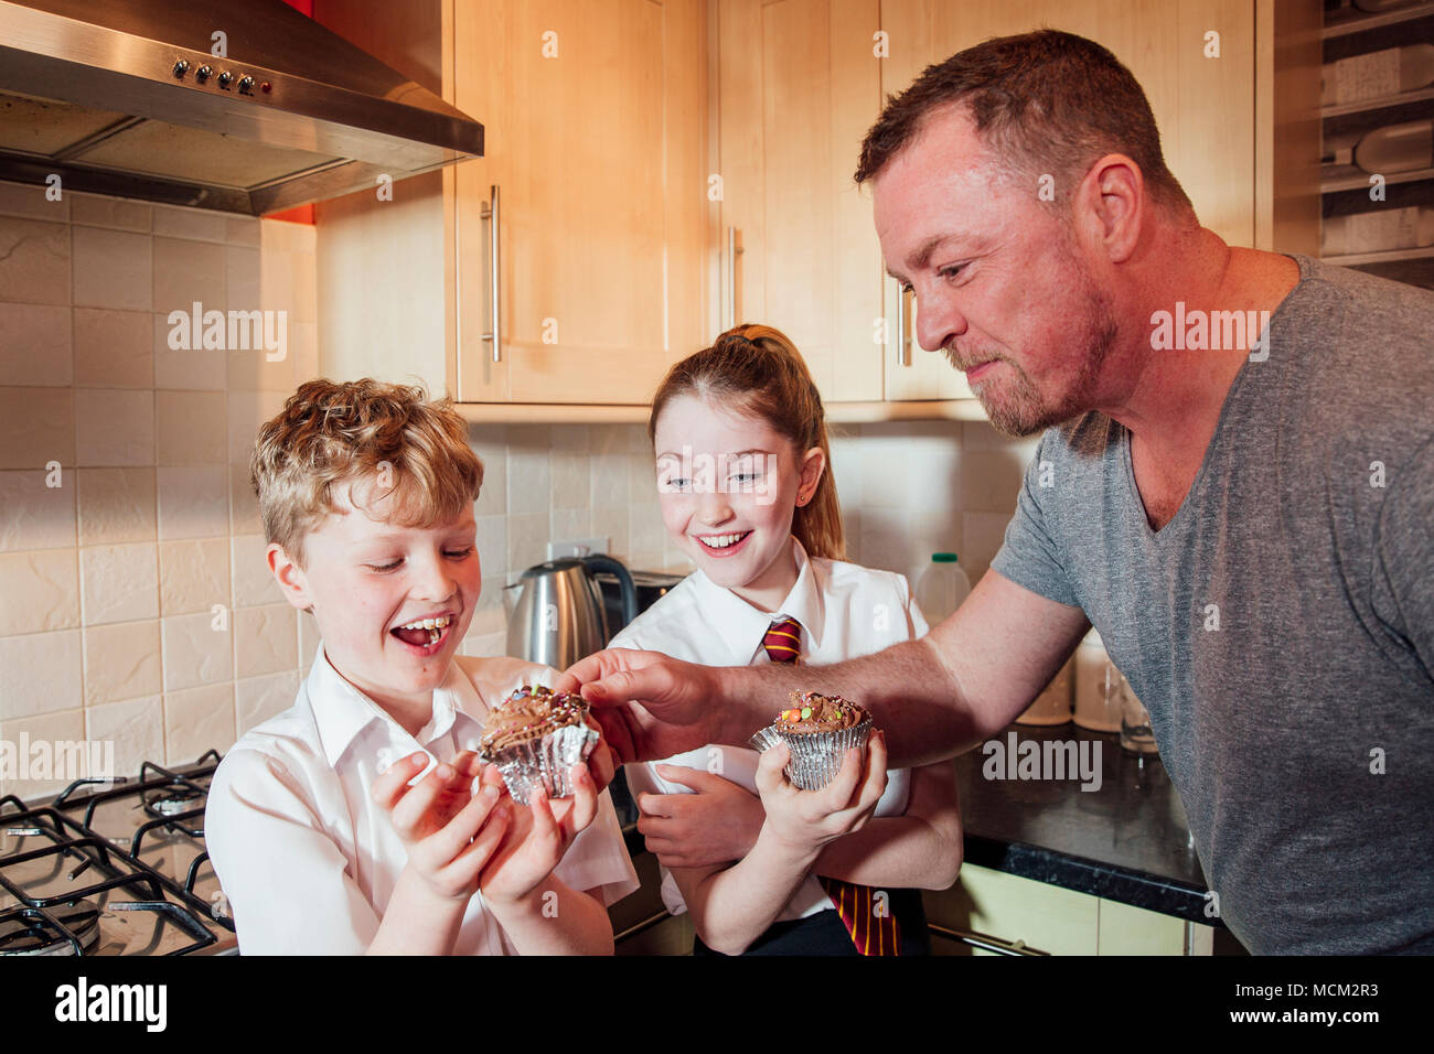
[{"label": "entire cream tiled backsplash running behind the boy and girl", "polygon": [[[0,182],[0,740],[113,740],[130,771],[227,750],[293,703],[317,638],[265,568],[247,463],[257,426],[320,373],[314,300],[313,228]],[[171,350],[168,314],[194,301],[287,311],[287,356]],[[503,652],[502,587],[549,539],[687,566],[641,424],[470,436],[486,470],[469,654]],[[915,587],[952,549],[975,582],[1034,442],[984,423],[835,427],[849,559]]]}]

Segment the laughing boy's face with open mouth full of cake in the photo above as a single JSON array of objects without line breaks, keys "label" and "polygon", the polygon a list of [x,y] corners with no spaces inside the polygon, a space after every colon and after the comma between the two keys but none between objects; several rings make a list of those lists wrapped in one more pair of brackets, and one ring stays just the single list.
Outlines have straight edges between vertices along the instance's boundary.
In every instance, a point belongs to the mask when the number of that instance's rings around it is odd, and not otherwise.
[{"label": "laughing boy's face with open mouth full of cake", "polygon": [[[384,500],[370,503],[361,485],[336,486],[334,500],[341,512],[304,538],[290,602],[313,605],[324,654],[350,684],[380,704],[422,701],[443,681],[478,604],[472,506],[447,523],[404,528],[384,522]],[[403,628],[426,619],[432,630]]]}]

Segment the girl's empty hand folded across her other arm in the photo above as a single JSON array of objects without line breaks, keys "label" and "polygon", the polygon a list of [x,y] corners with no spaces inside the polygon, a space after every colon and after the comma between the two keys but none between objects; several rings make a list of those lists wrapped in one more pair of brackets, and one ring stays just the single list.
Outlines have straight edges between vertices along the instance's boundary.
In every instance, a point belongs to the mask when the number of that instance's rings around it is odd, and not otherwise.
[{"label": "girl's empty hand folded across her other arm", "polygon": [[761,799],[698,769],[660,764],[657,773],[695,792],[637,796],[637,829],[664,868],[710,868],[751,852],[766,817]]}]

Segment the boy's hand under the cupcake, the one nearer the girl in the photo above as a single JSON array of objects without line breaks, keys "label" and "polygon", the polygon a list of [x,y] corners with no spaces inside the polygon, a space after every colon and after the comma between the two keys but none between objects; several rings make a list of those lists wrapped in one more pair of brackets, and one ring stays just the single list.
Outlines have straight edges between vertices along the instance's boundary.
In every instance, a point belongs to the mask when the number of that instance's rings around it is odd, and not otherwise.
[{"label": "boy's hand under the cupcake, the one nearer the girl", "polygon": [[[512,804],[508,836],[479,876],[483,899],[506,905],[531,895],[558,866],[572,840],[597,817],[598,789],[588,766],[575,764],[568,774],[572,777],[572,797],[549,802],[548,793],[538,787],[526,809]],[[483,771],[485,792],[495,780],[502,787],[503,777],[498,766],[490,764]],[[508,800],[512,803],[512,799]]]}]

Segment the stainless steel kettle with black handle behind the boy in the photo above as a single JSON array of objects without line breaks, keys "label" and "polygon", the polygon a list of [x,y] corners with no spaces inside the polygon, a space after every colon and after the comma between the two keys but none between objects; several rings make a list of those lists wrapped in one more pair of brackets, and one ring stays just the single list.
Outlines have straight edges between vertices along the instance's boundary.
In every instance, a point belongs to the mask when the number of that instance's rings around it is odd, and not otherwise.
[{"label": "stainless steel kettle with black handle behind the boy", "polygon": [[602,594],[594,572],[615,575],[622,592],[624,622],[637,618],[632,575],[621,561],[595,554],[554,559],[528,568],[509,589],[518,601],[508,612],[508,654],[566,670],[611,640]]}]

